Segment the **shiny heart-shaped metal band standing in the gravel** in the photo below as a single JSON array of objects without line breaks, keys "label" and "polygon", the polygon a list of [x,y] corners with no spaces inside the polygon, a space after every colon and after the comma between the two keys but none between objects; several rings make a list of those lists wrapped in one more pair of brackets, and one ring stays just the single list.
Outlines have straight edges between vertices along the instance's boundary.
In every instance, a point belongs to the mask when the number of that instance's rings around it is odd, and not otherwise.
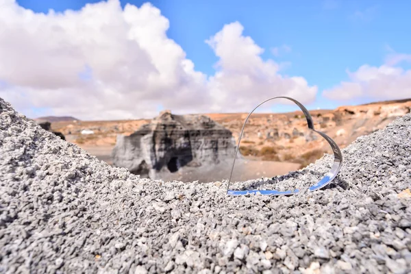
[{"label": "shiny heart-shaped metal band standing in the gravel", "polygon": [[[288,99],[288,100],[293,101],[294,103],[296,103],[299,106],[299,108],[301,108],[301,110],[303,111],[303,114],[306,116],[308,128],[310,130],[312,130],[313,132],[316,132],[316,133],[320,134],[325,140],[327,140],[329,145],[332,147],[332,151],[334,152],[334,164],[332,165],[331,170],[323,177],[323,179],[321,179],[319,182],[317,182],[316,184],[314,184],[313,186],[308,188],[309,191],[319,190],[320,188],[323,188],[324,186],[327,186],[327,184],[331,183],[332,180],[336,177],[336,175],[338,174],[338,172],[341,169],[341,165],[343,164],[343,154],[341,153],[340,148],[338,147],[336,142],[334,142],[334,140],[332,140],[332,138],[329,138],[329,136],[327,136],[323,132],[319,132],[319,131],[314,129],[314,123],[312,122],[310,112],[308,112],[308,110],[301,103],[299,103],[299,101],[296,101],[295,99],[292,99],[290,97],[273,97],[273,98],[267,99],[266,101],[260,103],[260,105],[262,105],[263,103],[266,103],[267,101],[271,101],[273,99],[279,99],[279,98]],[[242,125],[241,133],[240,133],[240,136],[238,137],[238,145],[237,145],[237,149],[236,149],[236,154],[234,155],[234,162],[233,162],[231,174],[229,175],[229,181],[228,181],[228,186],[227,186],[227,195],[248,195],[248,194],[257,194],[257,193],[259,193],[261,195],[279,196],[279,195],[294,195],[294,194],[297,194],[299,192],[298,189],[287,190],[287,191],[279,191],[279,190],[230,190],[229,189],[229,185],[231,184],[233,171],[234,171],[234,166],[236,164],[237,153],[238,153],[238,149],[240,149],[240,142],[241,142],[242,134],[244,133],[245,125],[247,124],[247,121],[248,121],[249,117],[251,116],[251,114],[253,114],[253,112],[260,105],[257,105],[256,108],[254,108],[253,111],[251,111],[248,114],[247,118],[245,119],[244,125]]]}]

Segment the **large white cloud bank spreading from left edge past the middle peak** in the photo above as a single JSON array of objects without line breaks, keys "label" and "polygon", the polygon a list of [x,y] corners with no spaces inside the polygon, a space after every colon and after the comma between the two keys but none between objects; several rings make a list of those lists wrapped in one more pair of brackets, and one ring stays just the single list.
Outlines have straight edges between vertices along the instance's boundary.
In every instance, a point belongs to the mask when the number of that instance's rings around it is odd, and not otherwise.
[{"label": "large white cloud bank spreading from left edge past the middle peak", "polygon": [[153,116],[158,106],[179,113],[247,111],[266,97],[308,103],[316,86],[283,77],[263,49],[225,25],[208,44],[219,57],[215,75],[195,70],[166,36],[169,20],[146,3],[119,0],[79,11],[34,13],[0,0],[0,97],[23,113],[46,108],[81,119]]}]

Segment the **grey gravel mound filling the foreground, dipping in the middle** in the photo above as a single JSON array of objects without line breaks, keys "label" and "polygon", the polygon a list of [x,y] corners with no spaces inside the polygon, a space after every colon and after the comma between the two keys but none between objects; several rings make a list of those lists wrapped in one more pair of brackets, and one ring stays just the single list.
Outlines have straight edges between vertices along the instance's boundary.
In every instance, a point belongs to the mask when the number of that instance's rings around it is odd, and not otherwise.
[{"label": "grey gravel mound filling the foreground, dipping in the middle", "polygon": [[[411,114],[343,155],[325,190],[227,197],[110,167],[0,99],[0,273],[410,273]],[[233,188],[304,188],[331,163]]]}]

